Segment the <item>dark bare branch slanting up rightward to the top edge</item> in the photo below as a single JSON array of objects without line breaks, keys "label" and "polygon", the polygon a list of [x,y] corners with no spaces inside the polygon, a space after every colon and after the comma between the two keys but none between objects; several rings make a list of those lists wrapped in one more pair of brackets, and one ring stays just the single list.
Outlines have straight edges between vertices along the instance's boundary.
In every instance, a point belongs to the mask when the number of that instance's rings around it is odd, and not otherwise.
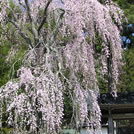
[{"label": "dark bare branch slanting up rightward to the top edge", "polygon": [[48,7],[49,7],[49,5],[50,5],[51,2],[52,2],[52,0],[48,0],[46,6],[45,6],[45,8],[44,8],[43,19],[42,19],[42,22],[41,22],[41,24],[40,24],[40,26],[39,26],[39,28],[38,28],[38,34],[40,33],[40,30],[41,30],[41,28],[43,27],[43,25],[46,23],[46,19],[47,19],[47,10],[48,10]]}]

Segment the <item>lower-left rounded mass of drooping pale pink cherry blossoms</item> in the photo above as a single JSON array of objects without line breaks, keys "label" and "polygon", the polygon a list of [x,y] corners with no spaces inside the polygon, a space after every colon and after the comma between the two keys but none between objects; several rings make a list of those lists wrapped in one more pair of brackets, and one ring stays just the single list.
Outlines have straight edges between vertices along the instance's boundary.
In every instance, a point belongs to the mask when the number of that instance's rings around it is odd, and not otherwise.
[{"label": "lower-left rounded mass of drooping pale pink cherry blossoms", "polygon": [[[35,70],[34,70],[35,71]],[[38,133],[38,127],[47,134],[59,130],[63,118],[63,87],[58,78],[47,70],[35,77],[30,69],[22,67],[19,79],[1,88],[0,99],[6,103],[7,123],[14,132]],[[22,120],[22,121],[20,121]],[[39,132],[41,132],[39,131]]]}]

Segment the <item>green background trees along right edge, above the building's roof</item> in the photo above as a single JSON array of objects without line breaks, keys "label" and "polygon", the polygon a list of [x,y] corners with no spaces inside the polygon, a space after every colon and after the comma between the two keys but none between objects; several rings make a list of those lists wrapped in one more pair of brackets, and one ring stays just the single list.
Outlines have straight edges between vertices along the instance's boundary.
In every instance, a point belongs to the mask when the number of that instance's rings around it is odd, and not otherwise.
[{"label": "green background trees along right edge, above the building's roof", "polygon": [[115,0],[124,10],[128,23],[124,23],[122,30],[123,68],[121,68],[118,91],[133,91],[133,48],[134,48],[134,2],[131,0]]}]

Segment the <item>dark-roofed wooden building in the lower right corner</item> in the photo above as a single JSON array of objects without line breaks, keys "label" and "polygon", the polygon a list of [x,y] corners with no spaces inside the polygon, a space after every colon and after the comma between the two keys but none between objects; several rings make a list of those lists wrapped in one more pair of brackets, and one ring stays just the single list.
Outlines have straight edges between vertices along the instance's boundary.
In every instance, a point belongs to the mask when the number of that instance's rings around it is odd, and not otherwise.
[{"label": "dark-roofed wooden building in the lower right corner", "polygon": [[101,94],[98,101],[108,134],[134,134],[134,93]]}]

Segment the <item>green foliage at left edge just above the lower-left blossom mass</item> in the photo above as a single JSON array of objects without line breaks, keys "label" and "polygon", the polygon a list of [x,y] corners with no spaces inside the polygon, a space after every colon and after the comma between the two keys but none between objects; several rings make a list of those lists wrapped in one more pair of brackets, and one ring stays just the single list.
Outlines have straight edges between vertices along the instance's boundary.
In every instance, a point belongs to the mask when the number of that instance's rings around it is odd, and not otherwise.
[{"label": "green foliage at left edge just above the lower-left blossom mass", "polygon": [[4,42],[4,45],[0,45],[0,86],[4,85],[9,79],[17,77],[16,71],[22,64],[23,55],[26,50],[24,46],[21,46],[14,57],[9,57],[11,58],[9,62],[7,61],[7,56],[11,46],[9,42]]}]

